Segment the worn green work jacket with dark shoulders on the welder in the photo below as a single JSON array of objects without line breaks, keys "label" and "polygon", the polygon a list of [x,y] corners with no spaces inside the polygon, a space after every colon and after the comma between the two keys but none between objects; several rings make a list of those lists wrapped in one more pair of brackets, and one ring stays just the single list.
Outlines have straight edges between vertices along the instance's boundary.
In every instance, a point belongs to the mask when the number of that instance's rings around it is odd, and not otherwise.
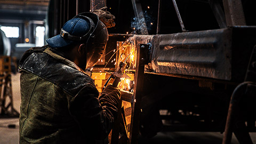
[{"label": "worn green work jacket with dark shoulders on the welder", "polygon": [[99,97],[93,79],[47,45],[25,52],[19,69],[20,143],[95,143],[107,137],[119,90],[107,86]]}]

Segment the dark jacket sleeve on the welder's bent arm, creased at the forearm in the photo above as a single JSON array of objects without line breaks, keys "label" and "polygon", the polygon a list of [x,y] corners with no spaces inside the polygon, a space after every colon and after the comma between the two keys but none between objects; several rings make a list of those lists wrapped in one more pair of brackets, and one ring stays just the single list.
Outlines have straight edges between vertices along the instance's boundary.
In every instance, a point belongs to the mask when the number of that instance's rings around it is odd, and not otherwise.
[{"label": "dark jacket sleeve on the welder's bent arm, creased at the forearm", "polygon": [[98,95],[94,85],[86,85],[70,103],[69,111],[86,136],[103,140],[112,129],[121,93],[108,85],[99,98]]}]

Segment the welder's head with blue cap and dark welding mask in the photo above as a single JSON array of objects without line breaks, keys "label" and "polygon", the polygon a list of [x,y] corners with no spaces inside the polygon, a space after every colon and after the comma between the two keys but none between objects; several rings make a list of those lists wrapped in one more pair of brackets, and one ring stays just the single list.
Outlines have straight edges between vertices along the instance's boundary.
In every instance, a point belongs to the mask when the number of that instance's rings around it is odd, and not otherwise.
[{"label": "welder's head with blue cap and dark welding mask", "polygon": [[85,12],[76,15],[63,25],[60,35],[46,39],[47,44],[57,49],[78,51],[80,67],[90,68],[97,63],[108,41],[106,26],[94,13]]}]

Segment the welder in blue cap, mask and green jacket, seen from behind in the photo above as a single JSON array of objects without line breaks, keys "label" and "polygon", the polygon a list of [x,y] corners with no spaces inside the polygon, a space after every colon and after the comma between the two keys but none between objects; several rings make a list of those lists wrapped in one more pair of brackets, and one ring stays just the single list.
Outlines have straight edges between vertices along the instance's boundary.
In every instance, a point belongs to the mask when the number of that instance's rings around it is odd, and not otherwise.
[{"label": "welder in blue cap, mask and green jacket, seen from behind", "polygon": [[20,143],[95,143],[109,134],[120,91],[102,94],[84,73],[101,58],[106,26],[90,12],[67,21],[47,45],[32,47],[19,63]]}]

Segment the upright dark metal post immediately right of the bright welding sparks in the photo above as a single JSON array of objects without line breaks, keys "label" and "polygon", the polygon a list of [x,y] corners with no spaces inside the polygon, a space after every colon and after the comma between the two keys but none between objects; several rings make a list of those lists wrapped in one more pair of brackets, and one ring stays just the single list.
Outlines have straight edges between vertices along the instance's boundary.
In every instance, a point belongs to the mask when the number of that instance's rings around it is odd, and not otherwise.
[{"label": "upright dark metal post immediately right of the bright welding sparks", "polygon": [[131,116],[131,131],[129,143],[137,143],[139,134],[139,119],[141,114],[141,98],[142,98],[142,87],[143,87],[143,75],[146,63],[146,54],[148,45],[141,44],[137,49],[137,61],[135,71],[135,85],[133,93],[132,103],[132,116]]}]

